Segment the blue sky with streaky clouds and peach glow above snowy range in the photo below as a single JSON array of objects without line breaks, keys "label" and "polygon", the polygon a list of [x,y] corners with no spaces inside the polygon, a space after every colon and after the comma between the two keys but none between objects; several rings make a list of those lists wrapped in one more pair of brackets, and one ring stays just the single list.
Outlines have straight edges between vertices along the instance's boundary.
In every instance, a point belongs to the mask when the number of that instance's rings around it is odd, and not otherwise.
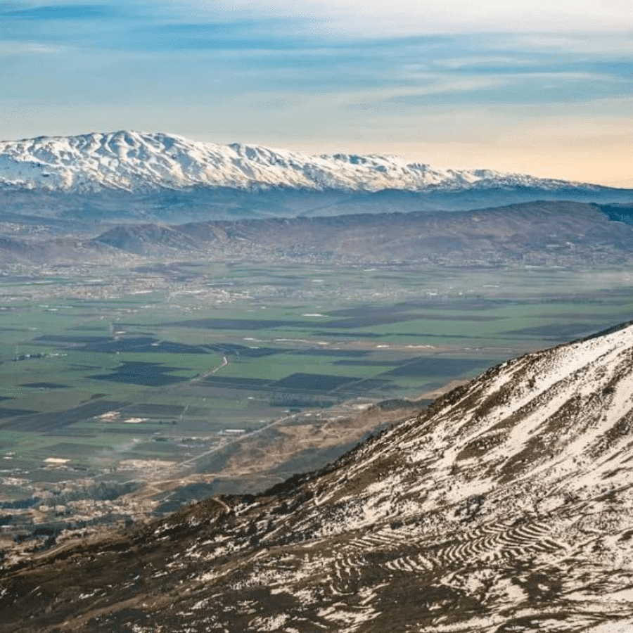
[{"label": "blue sky with streaky clouds and peach glow above snowy range", "polygon": [[633,11],[0,0],[0,139],[118,129],[633,188]]}]

